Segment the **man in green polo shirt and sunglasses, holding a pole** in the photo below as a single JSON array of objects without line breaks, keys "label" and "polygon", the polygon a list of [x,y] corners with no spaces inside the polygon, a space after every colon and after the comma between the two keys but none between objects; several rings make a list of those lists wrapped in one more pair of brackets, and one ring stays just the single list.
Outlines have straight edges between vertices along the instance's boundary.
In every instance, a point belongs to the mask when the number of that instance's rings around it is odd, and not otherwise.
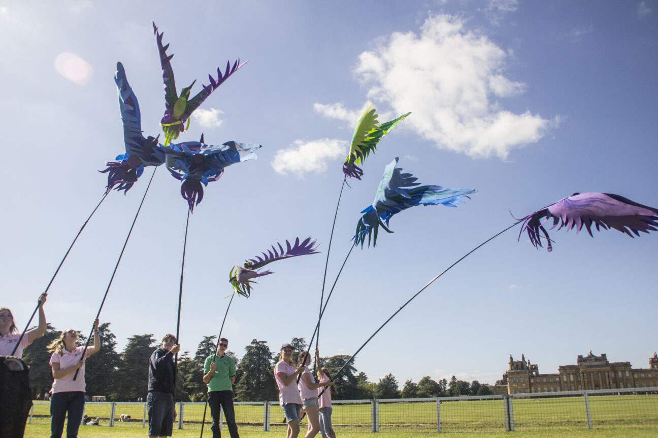
[{"label": "man in green polo shirt and sunglasses, holding a pole", "polygon": [[226,355],[228,339],[220,338],[217,352],[206,358],[203,364],[203,383],[208,385],[208,404],[213,416],[213,438],[221,438],[219,429],[220,409],[224,410],[224,418],[231,438],[240,438],[236,426],[236,414],[233,410],[233,384],[236,383],[236,361]]}]

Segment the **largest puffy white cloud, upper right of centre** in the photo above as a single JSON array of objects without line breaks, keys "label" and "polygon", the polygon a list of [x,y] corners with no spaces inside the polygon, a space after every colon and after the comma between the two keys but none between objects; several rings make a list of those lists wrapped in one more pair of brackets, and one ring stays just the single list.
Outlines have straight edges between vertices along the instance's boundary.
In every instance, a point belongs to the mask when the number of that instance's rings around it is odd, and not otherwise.
[{"label": "largest puffy white cloud, upper right of centre", "polygon": [[507,158],[559,122],[490,102],[526,89],[503,76],[508,57],[486,36],[465,30],[461,18],[435,15],[420,35],[395,32],[374,51],[361,53],[355,73],[370,85],[369,99],[388,102],[396,114],[411,111],[405,127],[439,148]]}]

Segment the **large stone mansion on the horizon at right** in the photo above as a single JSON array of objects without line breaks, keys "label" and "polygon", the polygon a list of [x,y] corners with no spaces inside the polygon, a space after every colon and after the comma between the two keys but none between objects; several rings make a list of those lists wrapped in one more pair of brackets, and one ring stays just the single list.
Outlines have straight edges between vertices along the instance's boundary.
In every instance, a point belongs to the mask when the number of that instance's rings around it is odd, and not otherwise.
[{"label": "large stone mansion on the horizon at right", "polygon": [[649,358],[649,368],[631,368],[630,362],[608,362],[605,353],[595,356],[590,350],[578,355],[577,365],[561,365],[553,374],[540,374],[524,355],[520,361],[509,355],[509,370],[496,383],[494,394],[658,387],[658,355]]}]

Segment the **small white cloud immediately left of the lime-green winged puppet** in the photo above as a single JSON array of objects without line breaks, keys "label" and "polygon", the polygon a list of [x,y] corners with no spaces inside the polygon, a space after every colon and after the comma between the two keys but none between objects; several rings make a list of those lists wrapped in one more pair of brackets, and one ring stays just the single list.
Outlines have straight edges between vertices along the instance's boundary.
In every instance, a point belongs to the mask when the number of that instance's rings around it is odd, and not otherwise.
[{"label": "small white cloud immediately left of the lime-green winged puppet", "polygon": [[295,140],[290,148],[276,151],[272,167],[276,173],[290,172],[299,178],[310,172],[322,173],[327,169],[327,161],[347,155],[347,144],[338,139]]}]

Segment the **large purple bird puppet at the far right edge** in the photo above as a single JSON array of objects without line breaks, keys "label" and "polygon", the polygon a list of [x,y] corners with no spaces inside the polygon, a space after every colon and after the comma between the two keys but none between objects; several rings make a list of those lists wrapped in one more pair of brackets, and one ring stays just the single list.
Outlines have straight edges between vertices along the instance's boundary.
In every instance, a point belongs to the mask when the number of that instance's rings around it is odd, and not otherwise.
[{"label": "large purple bird puppet at the far right edge", "polygon": [[[590,236],[592,234],[592,224],[597,230],[602,227],[604,230],[614,228],[633,237],[633,234],[640,236],[639,231],[648,233],[649,230],[655,231],[658,227],[658,209],[643,206],[617,194],[587,192],[574,193],[567,198],[562,198],[555,204],[551,204],[540,211],[535,211],[519,221],[523,221],[523,227],[519,232],[525,230],[528,232],[530,242],[535,248],[542,246],[540,231],[544,234],[547,242],[547,250],[551,252],[553,246],[544,224],[553,218],[553,227],[550,229],[561,229],[565,227],[567,231],[576,227],[576,234],[580,232],[584,225]],[[558,227],[559,224],[559,227]],[[633,234],[631,234],[631,232]]]}]

